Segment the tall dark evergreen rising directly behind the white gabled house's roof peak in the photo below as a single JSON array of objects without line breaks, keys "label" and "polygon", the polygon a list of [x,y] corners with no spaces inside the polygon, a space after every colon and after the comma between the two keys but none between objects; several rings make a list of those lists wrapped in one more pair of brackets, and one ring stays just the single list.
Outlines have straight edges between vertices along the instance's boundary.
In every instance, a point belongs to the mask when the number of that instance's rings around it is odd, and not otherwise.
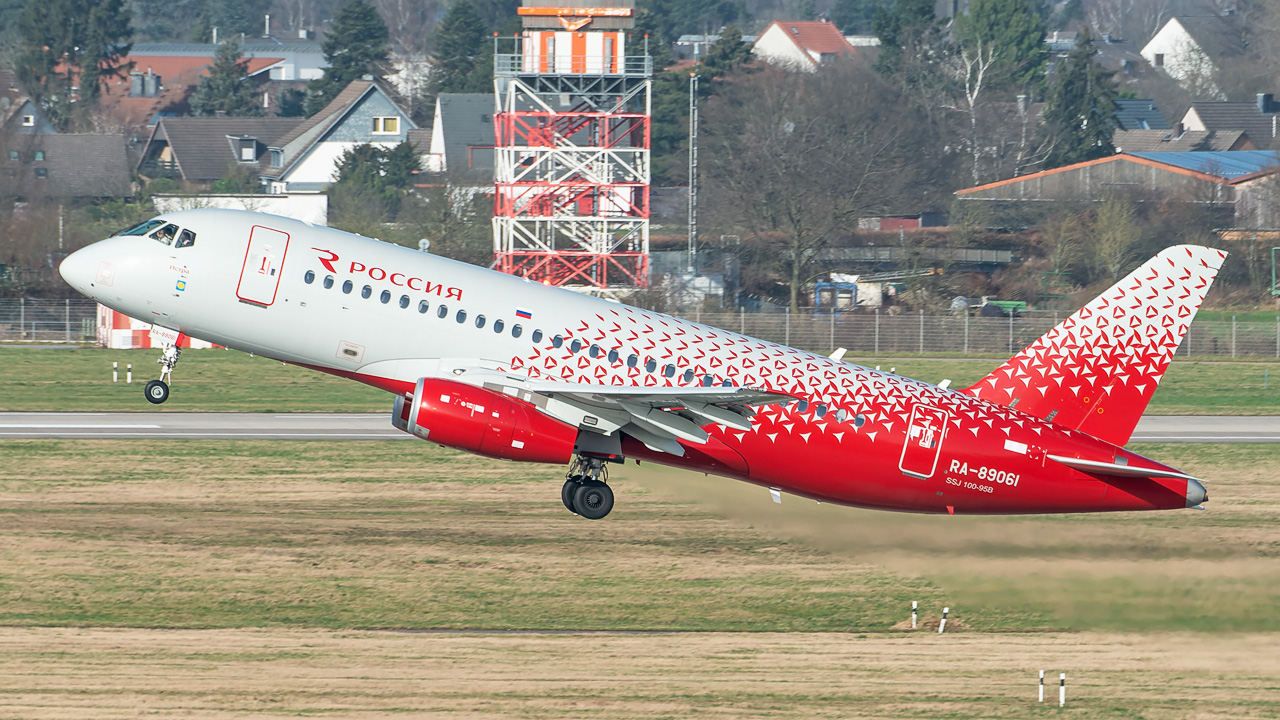
[{"label": "tall dark evergreen rising directly behind the white gabled house's roof peak", "polygon": [[367,0],[348,0],[320,42],[329,67],[324,77],[307,83],[306,114],[324,109],[352,81],[381,76],[389,51],[387,23]]}]

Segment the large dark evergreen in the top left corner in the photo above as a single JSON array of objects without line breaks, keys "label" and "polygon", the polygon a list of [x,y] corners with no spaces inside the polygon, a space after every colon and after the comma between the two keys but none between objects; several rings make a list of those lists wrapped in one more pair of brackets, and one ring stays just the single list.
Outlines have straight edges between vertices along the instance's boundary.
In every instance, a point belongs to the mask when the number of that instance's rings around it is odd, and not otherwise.
[{"label": "large dark evergreen in the top left corner", "polygon": [[97,104],[104,77],[132,67],[124,0],[28,0],[20,29],[18,77],[59,129]]}]

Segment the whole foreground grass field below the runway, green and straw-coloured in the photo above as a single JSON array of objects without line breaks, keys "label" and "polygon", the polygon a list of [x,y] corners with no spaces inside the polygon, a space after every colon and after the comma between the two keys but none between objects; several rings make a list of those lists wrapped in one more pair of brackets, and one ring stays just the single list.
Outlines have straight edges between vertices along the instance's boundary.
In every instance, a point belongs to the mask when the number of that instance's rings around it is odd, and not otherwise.
[{"label": "whole foreground grass field below the runway, green and straw-coloured", "polygon": [[1071,716],[1275,717],[1280,447],[1138,450],[1211,510],[778,506],[646,464],[590,523],[558,469],[428,443],[8,441],[0,717],[1025,717],[1042,667]]}]

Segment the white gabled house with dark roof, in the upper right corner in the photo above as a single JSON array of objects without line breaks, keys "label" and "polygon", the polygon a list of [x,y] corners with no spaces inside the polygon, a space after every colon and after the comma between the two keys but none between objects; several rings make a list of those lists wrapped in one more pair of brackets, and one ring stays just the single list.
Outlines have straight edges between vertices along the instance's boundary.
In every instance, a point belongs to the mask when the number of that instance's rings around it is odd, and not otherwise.
[{"label": "white gabled house with dark roof, in the upper right corner", "polygon": [[1224,58],[1244,53],[1234,15],[1171,18],[1142,49],[1153,68],[1199,97],[1221,97],[1216,82]]}]

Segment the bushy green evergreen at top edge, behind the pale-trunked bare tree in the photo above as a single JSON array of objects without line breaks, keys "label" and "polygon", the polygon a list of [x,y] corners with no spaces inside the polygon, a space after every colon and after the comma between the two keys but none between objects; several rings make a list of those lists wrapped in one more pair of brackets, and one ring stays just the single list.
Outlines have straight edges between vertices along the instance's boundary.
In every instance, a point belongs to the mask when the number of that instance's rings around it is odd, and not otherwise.
[{"label": "bushy green evergreen at top edge, behind the pale-trunked bare tree", "polygon": [[996,49],[993,86],[1025,90],[1044,79],[1044,18],[1029,0],[973,0],[956,18],[956,36],[965,46]]}]

